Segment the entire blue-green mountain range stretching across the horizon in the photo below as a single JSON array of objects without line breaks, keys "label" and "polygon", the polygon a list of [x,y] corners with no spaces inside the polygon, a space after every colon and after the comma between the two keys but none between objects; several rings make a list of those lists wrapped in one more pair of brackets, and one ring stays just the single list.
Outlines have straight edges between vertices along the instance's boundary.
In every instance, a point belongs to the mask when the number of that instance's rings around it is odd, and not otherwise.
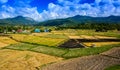
[{"label": "entire blue-green mountain range stretching across the horizon", "polygon": [[69,18],[53,19],[43,22],[37,22],[29,17],[17,16],[14,18],[0,19],[0,25],[36,25],[36,26],[59,26],[76,25],[83,23],[120,23],[120,16],[109,17],[90,17],[76,15]]}]

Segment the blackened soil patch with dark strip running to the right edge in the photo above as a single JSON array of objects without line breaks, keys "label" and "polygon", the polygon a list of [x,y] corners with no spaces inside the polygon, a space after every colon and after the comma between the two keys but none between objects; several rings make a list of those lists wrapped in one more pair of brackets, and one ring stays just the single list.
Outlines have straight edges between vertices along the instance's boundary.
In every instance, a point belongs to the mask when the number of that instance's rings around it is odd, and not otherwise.
[{"label": "blackened soil patch with dark strip running to the right edge", "polygon": [[83,44],[88,42],[120,42],[120,39],[69,39],[67,42],[59,45],[62,48],[85,48]]}]

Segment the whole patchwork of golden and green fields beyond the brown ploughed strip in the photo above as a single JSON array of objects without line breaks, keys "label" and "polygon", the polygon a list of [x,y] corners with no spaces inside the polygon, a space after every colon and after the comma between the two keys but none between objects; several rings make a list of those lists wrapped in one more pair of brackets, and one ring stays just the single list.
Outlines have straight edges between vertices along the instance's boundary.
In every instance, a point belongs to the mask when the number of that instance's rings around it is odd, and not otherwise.
[{"label": "whole patchwork of golden and green fields beyond the brown ploughed strip", "polygon": [[[119,37],[120,34],[114,31],[94,32],[94,30],[73,29],[51,33],[9,34],[8,37],[0,37],[0,70],[12,70],[15,67],[16,70],[39,70],[47,64],[98,55],[120,47]],[[62,44],[68,48],[60,47]],[[70,48],[68,44],[71,46],[83,44],[85,47]],[[95,46],[90,47],[92,44]]]}]

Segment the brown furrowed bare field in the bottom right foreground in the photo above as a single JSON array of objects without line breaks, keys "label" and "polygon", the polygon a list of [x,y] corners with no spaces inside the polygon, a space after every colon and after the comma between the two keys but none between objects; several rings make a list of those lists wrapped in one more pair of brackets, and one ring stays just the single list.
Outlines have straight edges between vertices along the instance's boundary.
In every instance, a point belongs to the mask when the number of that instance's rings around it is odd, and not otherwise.
[{"label": "brown furrowed bare field in the bottom right foreground", "polygon": [[74,58],[43,67],[42,70],[104,70],[120,64],[120,47],[99,55]]}]

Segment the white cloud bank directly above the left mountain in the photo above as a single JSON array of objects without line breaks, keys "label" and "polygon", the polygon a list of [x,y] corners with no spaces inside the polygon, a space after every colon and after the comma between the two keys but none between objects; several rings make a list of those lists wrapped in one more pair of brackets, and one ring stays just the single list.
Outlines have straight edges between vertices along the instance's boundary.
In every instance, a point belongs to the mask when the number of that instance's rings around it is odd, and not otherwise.
[{"label": "white cloud bank directly above the left mountain", "polygon": [[41,18],[41,15],[38,13],[36,7],[11,7],[11,6],[2,6],[2,11],[0,11],[0,18],[11,18],[15,16],[25,16],[25,17],[31,17],[34,20],[41,21],[43,20]]}]

